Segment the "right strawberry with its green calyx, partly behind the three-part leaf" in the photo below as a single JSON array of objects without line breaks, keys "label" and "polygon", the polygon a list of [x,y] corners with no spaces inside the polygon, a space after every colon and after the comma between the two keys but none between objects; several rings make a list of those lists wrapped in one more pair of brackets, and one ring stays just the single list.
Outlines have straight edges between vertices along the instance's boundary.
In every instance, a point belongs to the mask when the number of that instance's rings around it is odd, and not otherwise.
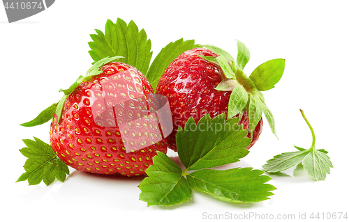
[{"label": "right strawberry with its green calyx, partly behind the three-part leaf", "polygon": [[174,131],[168,137],[168,147],[177,151],[178,127],[184,128],[193,118],[198,122],[209,113],[211,118],[225,113],[227,118],[239,117],[239,124],[248,129],[251,148],[262,132],[262,112],[272,132],[274,117],[260,91],[274,88],[283,74],[284,60],[267,61],[248,78],[243,68],[249,60],[247,47],[238,41],[237,64],[228,52],[205,45],[184,51],[165,70],[158,81],[156,93],[168,97]]}]

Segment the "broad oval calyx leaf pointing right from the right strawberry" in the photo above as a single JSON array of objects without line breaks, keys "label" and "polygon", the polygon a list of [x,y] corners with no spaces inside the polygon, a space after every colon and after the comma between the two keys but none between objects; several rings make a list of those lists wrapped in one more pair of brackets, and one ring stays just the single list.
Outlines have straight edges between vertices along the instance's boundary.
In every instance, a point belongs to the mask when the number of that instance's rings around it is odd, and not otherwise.
[{"label": "broad oval calyx leaf pointing right from the right strawberry", "polygon": [[279,82],[285,70],[285,59],[276,58],[269,60],[253,70],[250,79],[260,91],[274,88]]}]

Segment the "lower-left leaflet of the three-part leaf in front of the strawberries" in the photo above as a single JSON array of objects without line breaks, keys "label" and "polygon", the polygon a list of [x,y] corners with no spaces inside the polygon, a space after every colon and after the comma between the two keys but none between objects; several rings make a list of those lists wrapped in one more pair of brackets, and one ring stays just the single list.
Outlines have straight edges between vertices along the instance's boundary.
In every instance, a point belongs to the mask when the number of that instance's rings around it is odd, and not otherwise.
[{"label": "lower-left leaflet of the three-part leaf in front of the strawberries", "polygon": [[181,168],[162,152],[153,157],[153,165],[140,183],[140,200],[148,206],[172,206],[191,199],[191,187],[182,175]]}]

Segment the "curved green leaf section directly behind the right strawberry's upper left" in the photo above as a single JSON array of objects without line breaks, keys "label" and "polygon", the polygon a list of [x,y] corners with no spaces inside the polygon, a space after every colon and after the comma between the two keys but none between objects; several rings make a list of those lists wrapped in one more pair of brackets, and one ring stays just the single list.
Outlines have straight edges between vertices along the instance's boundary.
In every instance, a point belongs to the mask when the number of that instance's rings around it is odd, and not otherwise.
[{"label": "curved green leaf section directly behind the right strawberry's upper left", "polygon": [[159,54],[154,58],[154,61],[151,63],[150,68],[146,74],[147,79],[149,80],[151,86],[156,89],[158,80],[160,79],[163,72],[165,72],[168,65],[174,61],[180,54],[189,49],[197,47],[194,40],[183,41],[183,38],[170,42],[166,45]]}]

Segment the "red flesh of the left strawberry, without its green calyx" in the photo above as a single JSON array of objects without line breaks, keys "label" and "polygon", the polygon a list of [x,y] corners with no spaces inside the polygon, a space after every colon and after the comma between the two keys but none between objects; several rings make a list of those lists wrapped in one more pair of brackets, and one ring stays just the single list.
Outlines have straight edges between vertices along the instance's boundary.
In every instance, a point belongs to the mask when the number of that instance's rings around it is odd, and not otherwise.
[{"label": "red flesh of the left strawberry, without its green calyx", "polygon": [[167,151],[149,102],[153,90],[131,65],[111,62],[101,70],[68,95],[60,119],[54,115],[51,146],[78,171],[143,175],[156,151]]}]

